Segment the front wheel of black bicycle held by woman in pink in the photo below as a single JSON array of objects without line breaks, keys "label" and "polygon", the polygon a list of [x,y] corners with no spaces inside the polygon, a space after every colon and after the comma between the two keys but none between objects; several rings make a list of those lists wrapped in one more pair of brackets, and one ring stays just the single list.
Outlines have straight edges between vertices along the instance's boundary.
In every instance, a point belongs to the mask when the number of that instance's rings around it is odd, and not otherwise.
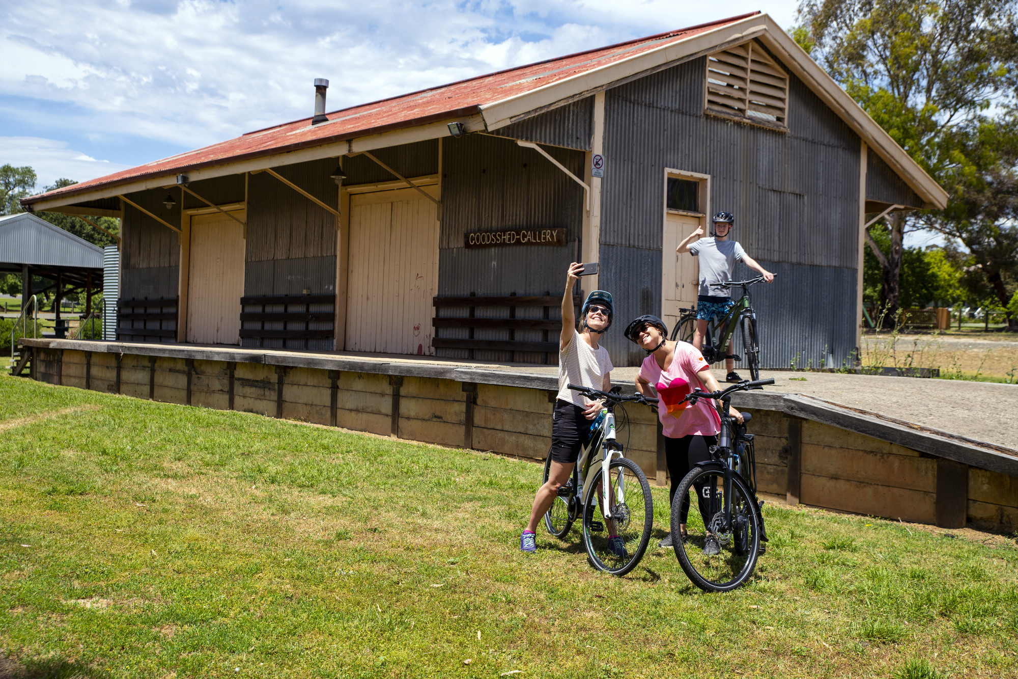
[{"label": "front wheel of black bicycle held by woman in pink", "polygon": [[[752,575],[759,556],[759,522],[752,493],[732,474],[731,521],[726,521],[724,487],[725,472],[720,465],[694,467],[672,502],[672,534],[679,534],[682,523],[688,534],[686,540],[675,540],[675,556],[692,583],[704,591],[735,589]],[[719,545],[716,555],[704,553],[709,535]]]}]

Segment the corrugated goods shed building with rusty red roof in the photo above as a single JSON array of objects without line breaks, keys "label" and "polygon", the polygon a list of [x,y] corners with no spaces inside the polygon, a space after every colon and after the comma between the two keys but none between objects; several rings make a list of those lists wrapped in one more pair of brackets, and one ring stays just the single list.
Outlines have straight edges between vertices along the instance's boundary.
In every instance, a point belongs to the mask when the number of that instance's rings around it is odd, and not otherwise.
[{"label": "corrugated goods shed building with rusty red roof", "polygon": [[22,204],[122,218],[123,340],[554,362],[546,296],[599,261],[616,365],[628,319],[695,301],[675,246],[728,210],[778,275],[777,367],[857,346],[866,213],[946,203],[766,14],[325,114],[327,85],[315,117]]}]

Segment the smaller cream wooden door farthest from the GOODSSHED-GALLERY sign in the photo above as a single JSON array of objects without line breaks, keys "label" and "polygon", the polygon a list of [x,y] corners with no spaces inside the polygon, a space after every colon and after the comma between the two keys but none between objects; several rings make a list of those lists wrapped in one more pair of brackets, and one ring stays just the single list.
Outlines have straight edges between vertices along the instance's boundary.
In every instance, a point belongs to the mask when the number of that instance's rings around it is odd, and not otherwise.
[{"label": "smaller cream wooden door farthest from the GOODSSHED-GALLERY sign", "polygon": [[[231,214],[244,218],[243,210]],[[243,227],[219,212],[191,217],[189,260],[187,342],[239,345]]]}]

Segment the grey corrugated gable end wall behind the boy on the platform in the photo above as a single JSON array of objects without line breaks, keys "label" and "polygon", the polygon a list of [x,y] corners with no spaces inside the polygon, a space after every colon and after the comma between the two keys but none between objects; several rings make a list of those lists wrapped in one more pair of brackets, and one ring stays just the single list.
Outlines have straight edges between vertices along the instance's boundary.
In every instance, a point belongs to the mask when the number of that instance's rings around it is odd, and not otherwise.
[{"label": "grey corrugated gable end wall behind the boy on the platform", "polygon": [[[795,76],[788,133],[704,116],[704,68],[696,59],[607,92],[601,261],[616,318],[660,313],[662,174],[701,172],[711,210],[733,212],[734,238],[778,273],[753,289],[761,364],[799,354],[816,365],[827,345],[840,365],[856,324],[858,138]],[[621,333],[603,342],[616,365],[641,358]]]}]

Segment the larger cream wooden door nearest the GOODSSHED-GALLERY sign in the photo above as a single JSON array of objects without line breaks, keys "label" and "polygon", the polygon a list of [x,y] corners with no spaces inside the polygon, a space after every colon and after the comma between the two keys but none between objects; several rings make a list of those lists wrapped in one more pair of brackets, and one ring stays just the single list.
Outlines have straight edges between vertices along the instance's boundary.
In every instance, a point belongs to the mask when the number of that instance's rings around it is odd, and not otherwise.
[{"label": "larger cream wooden door nearest the GOODSSHED-GALLERY sign", "polygon": [[413,189],[351,196],[348,252],[346,351],[434,355],[435,203]]}]

